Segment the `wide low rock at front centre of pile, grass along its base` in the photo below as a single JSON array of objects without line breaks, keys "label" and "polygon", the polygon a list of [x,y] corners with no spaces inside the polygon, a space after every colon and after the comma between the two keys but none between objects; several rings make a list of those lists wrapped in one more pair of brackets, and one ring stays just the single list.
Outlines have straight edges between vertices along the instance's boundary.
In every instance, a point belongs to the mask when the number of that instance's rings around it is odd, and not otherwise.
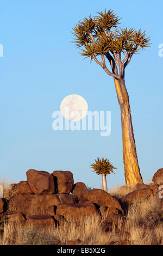
[{"label": "wide low rock at front centre of pile, grass along its base", "polygon": [[93,204],[59,204],[56,212],[67,221],[80,221],[85,216],[98,215]]}]

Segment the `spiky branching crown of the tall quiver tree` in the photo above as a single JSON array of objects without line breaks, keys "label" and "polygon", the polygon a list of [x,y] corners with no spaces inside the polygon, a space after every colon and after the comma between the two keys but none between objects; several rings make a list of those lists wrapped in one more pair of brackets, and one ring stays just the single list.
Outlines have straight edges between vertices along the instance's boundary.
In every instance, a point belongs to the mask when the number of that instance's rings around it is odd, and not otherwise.
[{"label": "spiky branching crown of the tall quiver tree", "polygon": [[[95,59],[108,75],[120,79],[133,54],[148,47],[150,39],[146,38],[146,31],[142,32],[141,29],[136,31],[134,28],[118,28],[118,21],[121,19],[111,9],[97,14],[93,19],[90,15],[88,19],[85,18],[76,24],[72,32],[75,38],[71,42],[75,43],[77,48],[84,46],[82,52],[79,52],[82,56]],[[96,58],[99,55],[102,62]],[[104,56],[109,60],[112,72],[106,68]]]}]

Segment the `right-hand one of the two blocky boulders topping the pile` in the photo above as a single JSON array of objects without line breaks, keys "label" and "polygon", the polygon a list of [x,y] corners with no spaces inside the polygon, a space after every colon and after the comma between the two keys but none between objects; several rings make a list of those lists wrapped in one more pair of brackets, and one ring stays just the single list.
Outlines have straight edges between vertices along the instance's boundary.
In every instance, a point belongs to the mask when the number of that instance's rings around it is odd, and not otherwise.
[{"label": "right-hand one of the two blocky boulders topping the pile", "polygon": [[69,194],[74,184],[72,173],[68,170],[54,170],[52,175],[54,176],[55,188],[57,192]]}]

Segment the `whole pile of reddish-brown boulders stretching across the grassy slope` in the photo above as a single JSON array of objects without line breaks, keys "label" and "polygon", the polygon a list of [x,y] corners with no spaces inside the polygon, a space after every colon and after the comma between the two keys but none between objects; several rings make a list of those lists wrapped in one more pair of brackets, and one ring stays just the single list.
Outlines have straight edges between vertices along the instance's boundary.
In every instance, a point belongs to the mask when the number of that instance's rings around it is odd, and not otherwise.
[{"label": "whole pile of reddish-brown boulders stretching across the grassy slope", "polygon": [[[0,198],[0,217],[12,222],[21,221],[27,226],[57,227],[61,222],[78,223],[85,216],[103,216],[107,213],[103,228],[106,232],[112,231],[112,227],[114,226],[115,230],[120,219],[125,225],[126,204],[139,203],[151,195],[158,197],[161,184],[163,168],[154,174],[152,184],[136,184],[133,192],[118,200],[101,189],[89,191],[83,182],[74,184],[73,174],[69,171],[55,170],[50,174],[29,169],[27,181],[11,184],[10,190],[15,191],[15,195],[10,200]],[[163,210],[160,199],[161,204]],[[117,233],[119,236],[123,233],[124,236],[124,231],[118,228]],[[129,234],[126,234],[126,237],[128,236]],[[118,244],[129,242],[127,239]]]}]

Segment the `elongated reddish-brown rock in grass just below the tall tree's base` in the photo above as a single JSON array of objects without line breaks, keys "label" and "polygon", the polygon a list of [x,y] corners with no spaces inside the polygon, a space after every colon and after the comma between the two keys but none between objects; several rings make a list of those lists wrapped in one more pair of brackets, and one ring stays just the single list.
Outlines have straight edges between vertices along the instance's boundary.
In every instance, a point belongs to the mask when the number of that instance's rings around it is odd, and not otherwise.
[{"label": "elongated reddish-brown rock in grass just below the tall tree's base", "polygon": [[122,197],[122,202],[127,204],[139,203],[142,200],[148,198],[152,195],[152,190],[150,188],[141,188],[140,190],[135,190]]}]

